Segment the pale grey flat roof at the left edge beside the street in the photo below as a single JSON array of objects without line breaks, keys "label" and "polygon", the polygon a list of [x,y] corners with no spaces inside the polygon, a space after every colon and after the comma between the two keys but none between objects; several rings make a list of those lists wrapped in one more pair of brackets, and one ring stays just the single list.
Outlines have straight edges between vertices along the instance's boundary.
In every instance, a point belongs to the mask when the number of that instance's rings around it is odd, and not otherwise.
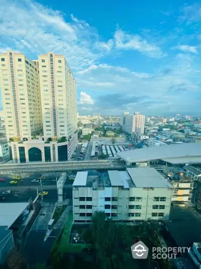
[{"label": "pale grey flat roof at the left edge beside the street", "polygon": [[0,203],[0,226],[7,226],[9,229],[29,204]]}]

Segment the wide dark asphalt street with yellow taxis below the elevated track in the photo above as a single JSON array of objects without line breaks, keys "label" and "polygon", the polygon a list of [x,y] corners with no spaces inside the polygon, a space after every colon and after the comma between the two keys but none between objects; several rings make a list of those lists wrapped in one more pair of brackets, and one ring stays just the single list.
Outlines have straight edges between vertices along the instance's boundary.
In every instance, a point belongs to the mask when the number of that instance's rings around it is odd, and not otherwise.
[{"label": "wide dark asphalt street with yellow taxis below the elevated track", "polygon": [[[69,175],[71,172],[68,172]],[[0,201],[1,202],[14,202],[14,201],[27,201],[31,197],[34,199],[38,192],[41,191],[41,184],[39,182],[32,182],[33,179],[38,179],[43,176],[45,179],[41,180],[43,191],[47,191],[48,194],[44,195],[44,200],[57,200],[57,186],[56,180],[59,179],[61,173],[34,173],[34,174],[21,174],[21,179],[16,180],[16,184],[11,184],[14,175],[4,175],[2,178],[6,179],[6,182],[0,182]],[[64,198],[72,197],[72,180],[66,179],[63,188]],[[11,190],[10,194],[4,194],[5,191]]]}]

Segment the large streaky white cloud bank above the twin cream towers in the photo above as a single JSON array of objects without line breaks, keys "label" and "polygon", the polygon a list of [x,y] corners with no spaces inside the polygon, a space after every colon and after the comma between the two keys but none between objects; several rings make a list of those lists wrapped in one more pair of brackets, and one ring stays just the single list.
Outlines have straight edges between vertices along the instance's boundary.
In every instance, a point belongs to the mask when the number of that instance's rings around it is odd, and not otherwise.
[{"label": "large streaky white cloud bank above the twin cream towers", "polygon": [[10,47],[33,58],[48,51],[64,53],[72,70],[85,69],[100,57],[93,50],[95,31],[73,15],[72,21],[66,22],[59,11],[36,2],[1,0],[0,17],[3,48]]}]

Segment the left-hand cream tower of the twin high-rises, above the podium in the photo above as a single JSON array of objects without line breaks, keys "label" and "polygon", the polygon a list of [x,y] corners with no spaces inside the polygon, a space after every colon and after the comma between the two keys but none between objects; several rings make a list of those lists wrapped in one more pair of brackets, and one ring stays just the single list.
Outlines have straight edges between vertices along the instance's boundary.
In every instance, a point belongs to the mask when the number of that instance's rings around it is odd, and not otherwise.
[{"label": "left-hand cream tower of the twin high-rises, above the podium", "polygon": [[7,139],[31,139],[42,130],[39,69],[22,53],[10,51],[0,57]]}]

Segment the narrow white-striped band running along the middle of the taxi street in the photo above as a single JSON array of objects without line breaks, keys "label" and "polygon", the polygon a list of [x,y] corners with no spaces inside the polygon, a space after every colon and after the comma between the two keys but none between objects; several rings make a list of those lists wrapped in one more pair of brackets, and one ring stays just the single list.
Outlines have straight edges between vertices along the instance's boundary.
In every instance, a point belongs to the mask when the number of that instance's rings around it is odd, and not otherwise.
[{"label": "narrow white-striped band running along the middle of the taxi street", "polygon": [[[31,190],[36,190],[38,187],[38,189],[40,190],[40,185],[38,186],[6,186],[6,187],[0,187],[0,191],[5,191],[5,190],[15,190],[15,191],[25,191],[28,189]],[[70,189],[72,188],[72,184],[67,184],[63,186],[64,189]],[[43,190],[50,190],[50,189],[57,189],[56,185],[43,185]]]}]

